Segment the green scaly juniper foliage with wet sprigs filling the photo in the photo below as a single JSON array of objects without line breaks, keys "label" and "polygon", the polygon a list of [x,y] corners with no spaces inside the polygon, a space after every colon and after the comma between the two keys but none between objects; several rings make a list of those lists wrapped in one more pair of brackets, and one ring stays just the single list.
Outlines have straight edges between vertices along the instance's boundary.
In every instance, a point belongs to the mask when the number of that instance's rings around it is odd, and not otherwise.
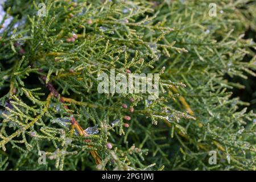
[{"label": "green scaly juniper foliage with wet sprigs filling the photo", "polygon": [[[255,28],[256,3],[214,1],[211,17],[211,2],[7,1],[0,169],[254,170],[256,115],[238,109],[248,103],[228,89],[244,86],[226,76],[255,76],[256,44],[242,34]],[[110,69],[159,73],[159,98],[98,93]]]}]

